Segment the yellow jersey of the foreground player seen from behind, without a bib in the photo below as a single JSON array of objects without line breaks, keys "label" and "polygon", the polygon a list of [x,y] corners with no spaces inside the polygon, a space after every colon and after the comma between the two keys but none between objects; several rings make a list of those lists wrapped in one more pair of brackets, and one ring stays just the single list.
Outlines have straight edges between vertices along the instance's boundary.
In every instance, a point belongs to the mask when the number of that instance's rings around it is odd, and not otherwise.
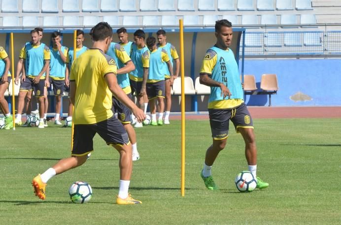
[{"label": "yellow jersey of the foreground player seen from behind, without a bib", "polygon": [[116,72],[115,61],[97,48],[90,48],[74,61],[70,73],[70,81],[76,85],[74,124],[94,124],[113,115],[112,93],[104,76]]}]

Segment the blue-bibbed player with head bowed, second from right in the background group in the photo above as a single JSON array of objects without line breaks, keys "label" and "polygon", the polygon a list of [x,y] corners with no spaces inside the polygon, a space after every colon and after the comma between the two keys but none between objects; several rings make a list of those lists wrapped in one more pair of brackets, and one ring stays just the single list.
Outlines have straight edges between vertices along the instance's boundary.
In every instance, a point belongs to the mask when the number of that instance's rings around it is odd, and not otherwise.
[{"label": "blue-bibbed player with head bowed, second from right in the background group", "polygon": [[[166,50],[156,46],[156,39],[154,37],[147,38],[146,42],[150,51],[147,79],[147,96],[151,113],[150,124],[157,126],[163,124],[162,117],[165,110],[165,63],[171,76],[173,76],[173,67]],[[156,121],[156,99],[158,100],[158,121]]]}]

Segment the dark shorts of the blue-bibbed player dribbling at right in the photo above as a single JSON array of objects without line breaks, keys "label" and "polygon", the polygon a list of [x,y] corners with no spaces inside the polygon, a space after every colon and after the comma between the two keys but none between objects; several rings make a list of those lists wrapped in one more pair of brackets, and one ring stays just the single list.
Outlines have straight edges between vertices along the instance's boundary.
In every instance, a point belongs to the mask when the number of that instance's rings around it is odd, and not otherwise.
[{"label": "dark shorts of the blue-bibbed player dribbling at right", "polygon": [[228,137],[230,119],[237,132],[239,127],[253,128],[252,118],[245,103],[232,110],[208,109],[208,114],[212,138],[215,140]]}]

